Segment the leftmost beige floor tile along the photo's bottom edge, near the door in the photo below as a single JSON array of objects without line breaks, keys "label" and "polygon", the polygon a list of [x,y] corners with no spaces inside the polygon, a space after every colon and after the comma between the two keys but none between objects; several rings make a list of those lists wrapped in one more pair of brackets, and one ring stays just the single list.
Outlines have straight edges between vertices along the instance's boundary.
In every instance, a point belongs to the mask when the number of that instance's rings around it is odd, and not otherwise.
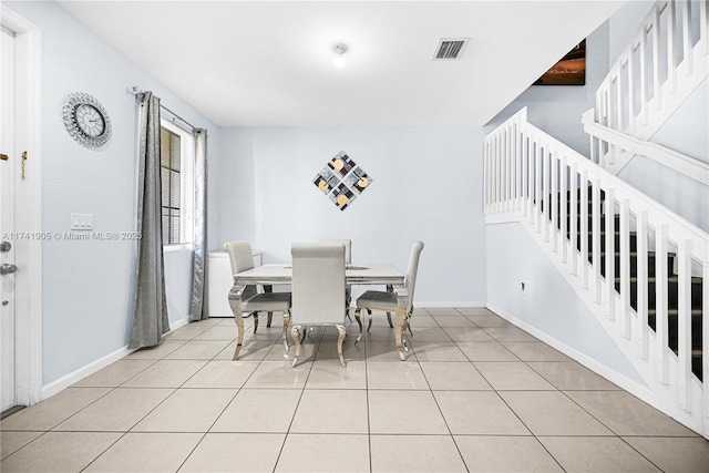
[{"label": "leftmost beige floor tile along the photo's bottom edge, near the door", "polygon": [[0,471],[80,472],[120,436],[107,432],[48,432],[2,460]]}]

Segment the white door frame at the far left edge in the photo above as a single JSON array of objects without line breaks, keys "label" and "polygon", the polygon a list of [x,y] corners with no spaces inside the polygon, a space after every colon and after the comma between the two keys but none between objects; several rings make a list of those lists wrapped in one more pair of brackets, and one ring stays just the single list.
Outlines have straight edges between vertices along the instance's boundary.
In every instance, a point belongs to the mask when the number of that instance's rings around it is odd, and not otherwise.
[{"label": "white door frame at the far left edge", "polygon": [[[42,230],[42,33],[23,17],[0,4],[0,24],[14,33],[16,145],[27,147],[25,179],[16,182],[16,230]],[[20,60],[17,60],[21,58]],[[18,96],[17,94],[21,96]],[[17,101],[16,99],[16,101]],[[32,405],[42,392],[42,240],[28,239],[22,266],[16,274],[16,402]],[[17,256],[17,255],[16,255]]]}]

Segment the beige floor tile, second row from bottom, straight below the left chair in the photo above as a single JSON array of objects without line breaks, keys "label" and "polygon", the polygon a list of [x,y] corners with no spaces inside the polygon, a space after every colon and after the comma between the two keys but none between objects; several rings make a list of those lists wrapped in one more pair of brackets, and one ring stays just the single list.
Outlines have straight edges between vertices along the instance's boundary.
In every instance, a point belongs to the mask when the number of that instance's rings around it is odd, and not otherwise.
[{"label": "beige floor tile, second row from bottom, straight below the left chair", "polygon": [[243,389],[210,431],[286,433],[301,392],[298,389]]}]

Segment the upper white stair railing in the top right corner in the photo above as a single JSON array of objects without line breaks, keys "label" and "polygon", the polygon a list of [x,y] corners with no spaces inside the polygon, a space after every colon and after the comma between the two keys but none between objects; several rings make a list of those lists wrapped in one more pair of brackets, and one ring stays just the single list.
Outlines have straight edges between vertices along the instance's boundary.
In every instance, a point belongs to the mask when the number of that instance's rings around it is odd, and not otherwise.
[{"label": "upper white stair railing in the top right corner", "polygon": [[[706,0],[656,2],[596,91],[584,122],[649,140],[709,75],[708,25]],[[586,132],[590,160],[617,174],[631,154],[593,128]]]}]

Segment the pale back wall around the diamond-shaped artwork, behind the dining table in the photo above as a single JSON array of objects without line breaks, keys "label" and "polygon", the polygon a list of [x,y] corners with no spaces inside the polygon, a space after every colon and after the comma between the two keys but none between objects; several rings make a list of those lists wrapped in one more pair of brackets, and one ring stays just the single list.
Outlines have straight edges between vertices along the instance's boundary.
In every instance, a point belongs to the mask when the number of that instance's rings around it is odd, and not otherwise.
[{"label": "pale back wall around the diamond-shaped artwork, behind the dining table", "polygon": [[[220,178],[230,184],[219,198],[239,206],[223,208],[223,241],[249,239],[264,263],[275,263],[290,260],[294,241],[350,238],[353,261],[405,270],[420,239],[417,304],[484,302],[482,130],[245,128],[224,135],[229,148]],[[312,183],[341,150],[373,178],[345,210]],[[243,202],[249,174],[255,195]]]}]

